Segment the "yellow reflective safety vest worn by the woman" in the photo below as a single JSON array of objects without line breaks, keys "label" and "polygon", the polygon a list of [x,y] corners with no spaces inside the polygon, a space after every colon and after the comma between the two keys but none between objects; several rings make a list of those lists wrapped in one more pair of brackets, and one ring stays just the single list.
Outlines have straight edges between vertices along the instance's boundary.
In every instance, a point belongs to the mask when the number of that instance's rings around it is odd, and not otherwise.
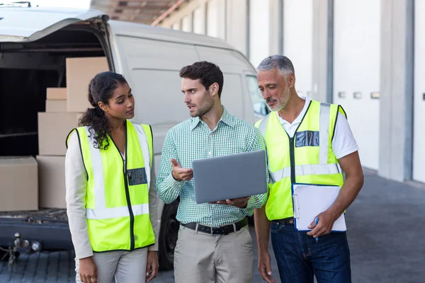
[{"label": "yellow reflective safety vest worn by the woman", "polygon": [[[87,172],[86,217],[91,248],[95,252],[135,250],[155,242],[149,218],[152,130],[149,125],[126,121],[123,156],[108,136],[108,149],[94,147],[89,127],[73,129]],[[106,141],[105,141],[106,142]]]}]

